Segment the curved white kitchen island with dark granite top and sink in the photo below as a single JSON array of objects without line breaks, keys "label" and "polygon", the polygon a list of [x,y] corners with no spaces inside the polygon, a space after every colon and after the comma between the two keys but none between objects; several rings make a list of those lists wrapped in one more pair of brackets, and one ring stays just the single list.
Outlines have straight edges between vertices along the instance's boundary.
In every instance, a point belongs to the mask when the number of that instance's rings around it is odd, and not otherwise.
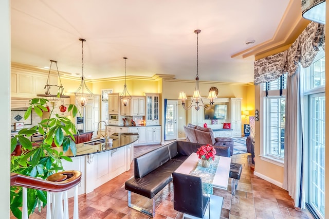
[{"label": "curved white kitchen island with dark granite top and sink", "polygon": [[[82,173],[78,194],[94,191],[114,177],[130,170],[134,159],[134,142],[139,138],[138,133],[113,133],[109,136],[112,144],[105,145],[105,138],[78,143],[77,154],[74,157],[68,150],[64,153],[72,162],[62,160],[64,170],[78,170]],[[112,139],[112,140],[111,140]],[[57,148],[61,151],[62,148]],[[68,197],[74,191],[68,191]]]}]

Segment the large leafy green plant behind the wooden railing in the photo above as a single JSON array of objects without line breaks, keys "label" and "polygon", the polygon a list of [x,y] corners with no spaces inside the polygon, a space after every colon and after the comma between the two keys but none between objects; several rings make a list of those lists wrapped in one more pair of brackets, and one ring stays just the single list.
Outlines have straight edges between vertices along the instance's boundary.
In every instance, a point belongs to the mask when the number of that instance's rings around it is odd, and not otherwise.
[{"label": "large leafy green plant behind the wooden railing", "polygon": [[[71,150],[75,156],[77,149],[74,134],[77,133],[76,126],[70,119],[55,114],[52,107],[49,108],[49,100],[44,98],[34,98],[30,100],[24,118],[27,119],[32,108],[34,112],[42,118],[41,122],[29,129],[22,129],[16,137],[11,138],[11,153],[14,151],[17,140],[22,145],[22,154],[20,156],[11,156],[10,171],[27,176],[46,179],[53,173],[63,171],[61,159],[72,161],[71,158],[63,156],[63,152]],[[78,108],[70,104],[68,109],[72,111],[72,116],[75,117],[78,113]],[[46,118],[45,118],[46,117]],[[31,142],[29,136],[39,132],[43,135],[41,142]],[[70,136],[70,137],[69,137]],[[63,152],[58,152],[56,147],[63,147]],[[28,215],[33,213],[36,206],[39,211],[47,204],[47,195],[45,191],[28,189],[27,196]],[[22,188],[10,188],[10,209],[13,215],[17,218],[22,218]]]}]

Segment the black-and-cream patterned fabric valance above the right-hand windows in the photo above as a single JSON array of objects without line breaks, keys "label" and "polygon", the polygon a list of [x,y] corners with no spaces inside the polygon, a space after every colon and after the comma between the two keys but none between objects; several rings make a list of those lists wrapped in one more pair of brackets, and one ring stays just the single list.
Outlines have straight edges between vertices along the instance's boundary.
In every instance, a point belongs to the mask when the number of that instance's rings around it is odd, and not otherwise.
[{"label": "black-and-cream patterned fabric valance above the right-hand windows", "polygon": [[294,75],[299,63],[308,67],[320,47],[324,49],[324,39],[324,25],[309,23],[286,51],[254,61],[254,84],[274,81],[286,72]]}]

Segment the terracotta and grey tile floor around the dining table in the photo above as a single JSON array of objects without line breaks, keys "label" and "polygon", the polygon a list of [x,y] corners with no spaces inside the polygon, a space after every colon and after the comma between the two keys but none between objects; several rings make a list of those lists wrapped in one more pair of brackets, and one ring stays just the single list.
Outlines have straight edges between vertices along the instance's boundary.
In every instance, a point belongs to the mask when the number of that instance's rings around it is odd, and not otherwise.
[{"label": "terracotta and grey tile floor around the dining table", "polygon": [[[135,157],[153,150],[160,145],[135,147]],[[224,197],[221,218],[313,218],[307,210],[294,207],[293,199],[287,191],[253,175],[250,168],[249,154],[233,155],[232,161],[243,165],[242,176],[235,196],[228,190],[214,189],[214,194]],[[127,191],[124,182],[134,175],[132,166],[118,177],[106,182],[102,186],[79,196],[80,218],[150,218],[134,209],[127,207]],[[167,186],[156,195],[156,219],[182,218],[182,214],[173,208],[173,186]],[[140,201],[144,206],[150,206],[150,200],[139,195],[132,196],[132,202]],[[72,200],[70,200],[72,202]],[[72,205],[70,203],[70,205]],[[70,207],[71,209],[71,207]],[[72,212],[70,212],[72,216]],[[45,210],[35,211],[30,218],[45,218]]]}]

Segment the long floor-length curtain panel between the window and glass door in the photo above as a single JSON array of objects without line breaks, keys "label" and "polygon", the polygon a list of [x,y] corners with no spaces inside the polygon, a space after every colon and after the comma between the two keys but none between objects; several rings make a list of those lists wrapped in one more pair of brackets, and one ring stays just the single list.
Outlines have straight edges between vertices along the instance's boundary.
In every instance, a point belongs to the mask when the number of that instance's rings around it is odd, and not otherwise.
[{"label": "long floor-length curtain panel between the window and glass door", "polygon": [[287,79],[284,138],[283,188],[295,200],[295,206],[305,208],[304,142],[300,67]]}]

